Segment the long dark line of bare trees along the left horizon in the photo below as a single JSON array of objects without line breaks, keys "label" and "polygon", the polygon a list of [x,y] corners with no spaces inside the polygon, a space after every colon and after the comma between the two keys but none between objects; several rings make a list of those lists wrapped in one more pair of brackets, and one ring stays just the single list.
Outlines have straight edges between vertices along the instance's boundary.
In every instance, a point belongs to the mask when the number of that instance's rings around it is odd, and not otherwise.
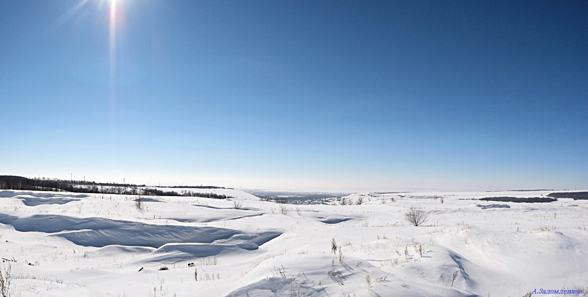
[{"label": "long dark line of bare trees along the left horizon", "polygon": [[[221,187],[216,187],[221,188]],[[57,178],[24,178],[22,176],[0,175],[0,189],[27,191],[56,191],[74,193],[98,193],[119,195],[151,195],[151,196],[191,196],[213,199],[234,198],[216,193],[199,193],[193,191],[162,191],[147,188],[145,185],[122,183],[97,183],[85,181],[64,181]]]}]

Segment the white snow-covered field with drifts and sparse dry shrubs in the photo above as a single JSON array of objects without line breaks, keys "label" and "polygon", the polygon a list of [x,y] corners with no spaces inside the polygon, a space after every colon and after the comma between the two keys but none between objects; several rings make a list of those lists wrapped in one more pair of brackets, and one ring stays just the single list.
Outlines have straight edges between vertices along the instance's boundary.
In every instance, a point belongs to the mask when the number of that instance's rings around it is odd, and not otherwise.
[{"label": "white snow-covered field with drifts and sparse dry shrubs", "polygon": [[[23,297],[519,297],[588,289],[588,201],[471,199],[552,191],[349,196],[362,205],[202,192],[237,198],[148,196],[141,210],[133,196],[0,191],[0,256],[15,260],[1,263],[2,272],[10,266],[11,289]],[[405,221],[411,206],[428,213],[425,224]],[[537,294],[550,295],[573,296]]]}]

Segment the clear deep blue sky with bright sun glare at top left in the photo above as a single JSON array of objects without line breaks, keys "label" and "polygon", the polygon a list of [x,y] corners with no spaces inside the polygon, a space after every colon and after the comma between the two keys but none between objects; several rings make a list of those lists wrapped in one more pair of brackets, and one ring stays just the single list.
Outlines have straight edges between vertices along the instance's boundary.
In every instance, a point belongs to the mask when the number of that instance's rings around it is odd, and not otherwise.
[{"label": "clear deep blue sky with bright sun glare at top left", "polygon": [[586,1],[0,1],[0,174],[588,188]]}]

